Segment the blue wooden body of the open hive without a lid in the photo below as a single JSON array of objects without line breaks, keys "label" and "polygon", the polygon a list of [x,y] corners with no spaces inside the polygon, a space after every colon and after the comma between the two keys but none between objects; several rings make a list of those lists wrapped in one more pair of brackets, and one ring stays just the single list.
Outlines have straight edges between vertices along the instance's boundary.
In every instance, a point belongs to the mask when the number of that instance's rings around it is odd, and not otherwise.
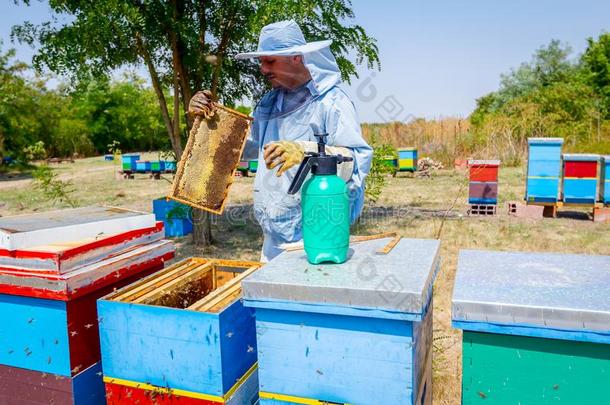
[{"label": "blue wooden body of the open hive without a lid", "polygon": [[99,300],[98,314],[108,377],[222,396],[256,361],[240,300],[220,313]]}]

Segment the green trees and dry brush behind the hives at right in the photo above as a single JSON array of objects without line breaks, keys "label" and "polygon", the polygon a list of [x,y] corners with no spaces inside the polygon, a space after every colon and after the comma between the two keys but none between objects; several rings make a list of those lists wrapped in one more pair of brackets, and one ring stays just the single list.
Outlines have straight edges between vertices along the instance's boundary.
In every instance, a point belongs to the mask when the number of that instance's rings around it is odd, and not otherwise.
[{"label": "green trees and dry brush behind the hives at right", "polygon": [[[498,91],[477,100],[471,115],[480,148],[519,163],[528,137],[557,136],[568,150],[609,153],[603,139],[610,106],[610,35],[589,40],[577,59],[559,41],[538,49],[529,63],[503,75]],[[606,93],[607,92],[607,93]]]}]

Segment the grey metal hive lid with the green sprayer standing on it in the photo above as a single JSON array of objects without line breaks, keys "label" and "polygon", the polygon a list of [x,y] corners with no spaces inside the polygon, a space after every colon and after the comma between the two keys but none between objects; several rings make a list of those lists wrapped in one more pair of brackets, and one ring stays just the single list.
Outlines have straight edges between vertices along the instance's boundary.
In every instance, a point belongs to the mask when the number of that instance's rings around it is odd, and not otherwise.
[{"label": "grey metal hive lid with the green sprayer standing on it", "polygon": [[392,239],[354,243],[343,264],[313,265],[302,250],[284,252],[242,282],[246,305],[258,302],[316,304],[421,316],[440,262],[440,242]]}]

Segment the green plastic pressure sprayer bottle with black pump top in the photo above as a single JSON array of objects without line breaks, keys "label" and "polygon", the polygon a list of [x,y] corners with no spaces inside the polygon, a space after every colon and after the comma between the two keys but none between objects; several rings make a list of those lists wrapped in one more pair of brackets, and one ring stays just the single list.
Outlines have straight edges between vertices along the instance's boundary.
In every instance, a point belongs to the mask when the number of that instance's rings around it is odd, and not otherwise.
[{"label": "green plastic pressure sprayer bottle with black pump top", "polygon": [[[347,185],[337,176],[337,165],[351,157],[327,155],[325,138],[316,135],[318,153],[307,153],[288,190],[295,194],[302,187],[303,244],[312,264],[343,263],[349,248],[349,196]],[[311,178],[307,175],[311,171]]]}]

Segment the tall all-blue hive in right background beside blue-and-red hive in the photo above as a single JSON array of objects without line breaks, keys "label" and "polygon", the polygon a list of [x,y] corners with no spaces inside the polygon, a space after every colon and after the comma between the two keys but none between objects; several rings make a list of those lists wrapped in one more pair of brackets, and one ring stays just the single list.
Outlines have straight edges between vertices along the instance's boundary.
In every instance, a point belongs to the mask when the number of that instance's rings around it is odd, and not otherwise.
[{"label": "tall all-blue hive in right background beside blue-and-red hive", "polygon": [[562,138],[529,138],[527,202],[559,201]]}]

